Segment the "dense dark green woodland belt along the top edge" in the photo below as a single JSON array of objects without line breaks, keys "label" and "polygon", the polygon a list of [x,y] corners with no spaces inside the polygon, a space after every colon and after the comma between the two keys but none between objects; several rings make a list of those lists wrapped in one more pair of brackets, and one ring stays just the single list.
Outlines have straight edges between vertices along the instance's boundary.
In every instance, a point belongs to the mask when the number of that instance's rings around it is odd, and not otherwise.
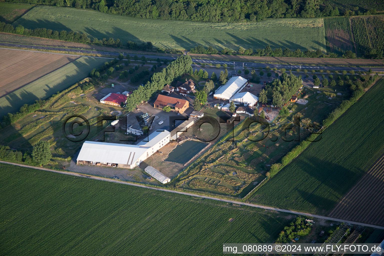
[{"label": "dense dark green woodland belt along the top edge", "polygon": [[375,9],[354,7],[339,10],[324,0],[8,0],[8,2],[93,8],[103,13],[159,20],[209,22],[262,21],[266,18],[314,18],[323,16],[370,15]]}]

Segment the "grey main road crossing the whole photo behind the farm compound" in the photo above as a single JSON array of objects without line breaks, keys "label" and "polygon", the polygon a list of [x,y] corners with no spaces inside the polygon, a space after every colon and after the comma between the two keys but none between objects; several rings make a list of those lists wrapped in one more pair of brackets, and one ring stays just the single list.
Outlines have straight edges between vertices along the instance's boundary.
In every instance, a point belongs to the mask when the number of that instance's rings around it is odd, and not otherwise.
[{"label": "grey main road crossing the whole photo behind the farm compound", "polygon": [[[14,46],[14,47],[22,47],[22,48],[33,48],[33,49],[40,49],[40,50],[55,50],[55,51],[71,51],[71,52],[78,52],[78,53],[90,53],[90,54],[101,54],[101,55],[112,55],[112,56],[118,56],[120,53],[116,52],[108,52],[108,51],[91,51],[91,50],[77,50],[77,49],[70,49],[70,48],[59,48],[59,47],[49,47],[49,46],[32,46],[32,45],[17,45],[12,43],[0,43],[2,46]],[[124,55],[127,55],[124,53]],[[131,54],[132,55],[132,54]],[[140,55],[136,54],[138,57],[145,56],[146,58],[160,58],[160,59],[169,59],[174,60],[176,57],[170,57],[170,56],[159,56],[159,55]],[[332,66],[306,66],[306,65],[287,65],[287,64],[268,64],[268,63],[253,63],[253,62],[240,62],[240,61],[218,61],[213,59],[192,59],[194,62],[199,63],[206,63],[206,64],[227,64],[227,65],[234,65],[236,68],[242,68],[248,67],[248,68],[258,68],[258,67],[266,67],[269,66],[270,68],[285,68],[285,69],[329,69],[329,70],[354,70],[354,71],[368,71],[369,67],[364,68],[357,68],[357,67],[332,67]],[[372,71],[381,71],[384,72],[384,68],[372,68]]]}]

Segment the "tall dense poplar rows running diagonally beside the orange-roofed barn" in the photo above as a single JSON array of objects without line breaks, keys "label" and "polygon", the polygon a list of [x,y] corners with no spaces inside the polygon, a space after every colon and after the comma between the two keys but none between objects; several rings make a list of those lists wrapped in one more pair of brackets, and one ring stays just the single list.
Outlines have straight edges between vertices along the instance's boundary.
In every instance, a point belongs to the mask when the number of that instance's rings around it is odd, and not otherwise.
[{"label": "tall dense poplar rows running diagonally beside the orange-roofed barn", "polygon": [[144,86],[139,86],[127,98],[126,110],[132,111],[143,101],[148,101],[153,94],[161,90],[166,84],[171,84],[176,78],[192,72],[192,59],[188,55],[182,55],[169,63],[166,68],[152,75],[151,80]]}]

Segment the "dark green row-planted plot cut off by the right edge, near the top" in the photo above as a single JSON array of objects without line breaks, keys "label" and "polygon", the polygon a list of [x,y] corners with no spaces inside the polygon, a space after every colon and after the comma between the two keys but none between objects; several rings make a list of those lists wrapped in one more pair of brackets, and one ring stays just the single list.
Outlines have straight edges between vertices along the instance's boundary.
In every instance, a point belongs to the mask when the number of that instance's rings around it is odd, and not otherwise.
[{"label": "dark green row-planted plot cut off by the right edge, near the top", "polygon": [[384,49],[384,16],[369,16],[366,18],[371,47]]}]

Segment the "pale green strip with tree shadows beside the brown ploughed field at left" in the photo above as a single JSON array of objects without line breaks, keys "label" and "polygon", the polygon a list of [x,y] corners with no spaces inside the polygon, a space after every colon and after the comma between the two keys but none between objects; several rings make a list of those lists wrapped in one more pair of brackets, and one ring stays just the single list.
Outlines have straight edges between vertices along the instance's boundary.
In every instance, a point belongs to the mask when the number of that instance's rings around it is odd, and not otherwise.
[{"label": "pale green strip with tree shadows beside the brown ploughed field at left", "polygon": [[91,69],[104,63],[103,58],[81,57],[62,68],[26,84],[20,89],[0,98],[0,115],[15,112],[24,104],[36,99],[46,99],[58,91],[86,78]]}]

